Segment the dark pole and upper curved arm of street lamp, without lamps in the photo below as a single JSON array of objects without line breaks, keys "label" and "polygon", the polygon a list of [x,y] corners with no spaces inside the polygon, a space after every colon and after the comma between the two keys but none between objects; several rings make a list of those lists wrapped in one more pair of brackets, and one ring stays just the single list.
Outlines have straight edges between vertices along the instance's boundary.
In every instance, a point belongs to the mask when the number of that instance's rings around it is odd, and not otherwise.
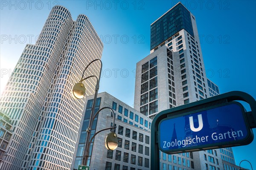
[{"label": "dark pole and upper curved arm of street lamp, without lamps", "polygon": [[95,110],[95,105],[96,105],[96,99],[97,99],[97,95],[98,95],[98,91],[99,91],[99,80],[100,80],[100,77],[101,77],[101,72],[102,72],[102,61],[100,59],[95,59],[93,61],[91,61],[87,66],[86,68],[84,69],[83,71],[83,74],[82,74],[82,79],[84,78],[84,72],[85,70],[88,68],[88,66],[93,63],[94,61],[97,61],[99,60],[101,65],[100,65],[100,72],[99,72],[99,79],[97,79],[97,84],[96,84],[96,87],[95,87],[95,94],[94,94],[94,99],[93,99],[93,106],[92,106],[92,111],[91,111],[91,114],[90,114],[90,120],[89,120],[89,126],[86,130],[87,132],[87,136],[86,136],[86,142],[85,142],[85,148],[84,148],[84,153],[83,153],[83,165],[87,165],[87,161],[88,161],[88,157],[89,157],[89,152],[90,152],[90,143],[89,143],[89,139],[90,139],[90,133],[91,133],[91,127],[92,127],[92,118],[93,118],[93,114],[94,114],[94,110]]}]

